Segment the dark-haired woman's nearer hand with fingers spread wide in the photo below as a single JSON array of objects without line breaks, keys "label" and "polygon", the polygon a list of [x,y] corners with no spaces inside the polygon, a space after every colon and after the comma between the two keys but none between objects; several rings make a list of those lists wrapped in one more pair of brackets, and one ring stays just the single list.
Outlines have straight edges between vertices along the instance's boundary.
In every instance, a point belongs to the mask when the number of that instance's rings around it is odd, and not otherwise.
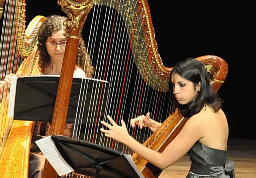
[{"label": "dark-haired woman's nearer hand with fingers spread wide", "polygon": [[101,128],[100,131],[105,133],[106,137],[110,137],[118,142],[125,144],[125,141],[130,135],[127,131],[124,121],[121,120],[121,126],[118,126],[110,116],[107,116],[107,118],[112,126],[104,121],[101,121],[101,124],[106,126],[109,130]]}]

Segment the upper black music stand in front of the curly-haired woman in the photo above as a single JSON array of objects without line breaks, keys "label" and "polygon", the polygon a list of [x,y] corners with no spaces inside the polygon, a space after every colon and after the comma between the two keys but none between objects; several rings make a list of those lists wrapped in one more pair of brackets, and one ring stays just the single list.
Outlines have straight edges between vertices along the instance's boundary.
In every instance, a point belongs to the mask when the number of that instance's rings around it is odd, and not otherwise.
[{"label": "upper black music stand in front of the curly-haired woman", "polygon": [[[14,120],[51,122],[57,96],[59,75],[14,77],[11,81],[9,117]],[[82,85],[82,87],[81,87]],[[74,123],[76,111],[82,111],[82,123],[87,118],[104,117],[109,83],[94,78],[73,78],[68,104],[67,123]],[[100,96],[101,87],[105,95]],[[82,91],[80,90],[82,88]],[[80,97],[84,93],[84,97]],[[100,98],[101,97],[101,98]],[[93,99],[93,101],[91,100]],[[90,102],[93,103],[90,103]],[[99,101],[100,104],[99,104]],[[78,107],[79,103],[79,107]],[[81,110],[80,110],[81,109]],[[76,122],[81,123],[81,119]]]}]

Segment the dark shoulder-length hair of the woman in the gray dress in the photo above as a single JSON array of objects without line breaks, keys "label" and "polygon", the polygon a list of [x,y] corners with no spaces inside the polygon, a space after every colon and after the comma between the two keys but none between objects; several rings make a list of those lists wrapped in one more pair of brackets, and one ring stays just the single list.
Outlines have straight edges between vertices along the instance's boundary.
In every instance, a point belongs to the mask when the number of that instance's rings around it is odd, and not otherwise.
[{"label": "dark shoulder-length hair of the woman in the gray dress", "polygon": [[[214,113],[221,108],[222,100],[214,94],[210,85],[210,75],[203,63],[194,58],[186,58],[174,66],[170,76],[173,76],[174,73],[192,81],[195,89],[198,83],[201,82],[200,91],[193,101],[186,105],[177,103],[177,106],[184,117],[191,117],[199,113],[205,105],[209,105]],[[170,80],[171,88],[173,88],[172,85]]]}]

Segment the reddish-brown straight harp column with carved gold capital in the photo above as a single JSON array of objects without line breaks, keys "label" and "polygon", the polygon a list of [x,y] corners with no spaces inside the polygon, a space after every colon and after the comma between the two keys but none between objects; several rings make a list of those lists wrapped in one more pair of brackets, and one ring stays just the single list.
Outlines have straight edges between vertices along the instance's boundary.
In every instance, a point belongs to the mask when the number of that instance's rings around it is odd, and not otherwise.
[{"label": "reddish-brown straight harp column with carved gold capital", "polygon": [[[67,38],[67,43],[60,73],[50,135],[64,134],[78,43],[81,38],[84,22],[93,7],[92,0],[58,0],[57,3],[68,17],[67,21],[64,22],[64,25],[67,27],[67,31],[64,34]],[[47,160],[45,162],[43,177],[57,177],[57,173]]]}]

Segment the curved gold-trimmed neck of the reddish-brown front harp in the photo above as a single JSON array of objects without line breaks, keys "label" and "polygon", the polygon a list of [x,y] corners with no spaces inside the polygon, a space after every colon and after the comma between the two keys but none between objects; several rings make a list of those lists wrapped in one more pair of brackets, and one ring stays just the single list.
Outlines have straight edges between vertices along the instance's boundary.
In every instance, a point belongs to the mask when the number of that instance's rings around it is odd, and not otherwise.
[{"label": "curved gold-trimmed neck of the reddish-brown front harp", "polygon": [[[125,19],[129,40],[132,44],[134,62],[145,82],[156,90],[170,91],[170,72],[162,63],[157,51],[153,27],[149,21],[149,11],[145,1],[94,0],[94,4],[114,8]],[[139,9],[140,8],[140,9]],[[205,61],[205,60],[204,60]],[[213,62],[213,61],[212,61]],[[206,65],[207,71],[216,72],[215,66]],[[214,73],[214,76],[218,75]]]}]

